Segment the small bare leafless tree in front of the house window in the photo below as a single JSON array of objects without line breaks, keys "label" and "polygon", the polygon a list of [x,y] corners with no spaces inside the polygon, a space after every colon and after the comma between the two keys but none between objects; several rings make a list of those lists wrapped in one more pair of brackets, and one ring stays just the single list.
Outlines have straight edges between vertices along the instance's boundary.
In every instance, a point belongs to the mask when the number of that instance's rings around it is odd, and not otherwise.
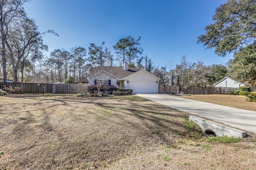
[{"label": "small bare leafless tree in front of the house window", "polygon": [[89,74],[91,79],[94,80],[94,85],[97,87],[97,92],[100,93],[101,88],[104,85],[111,84],[111,75],[112,68],[110,66],[97,66],[90,68]]}]

